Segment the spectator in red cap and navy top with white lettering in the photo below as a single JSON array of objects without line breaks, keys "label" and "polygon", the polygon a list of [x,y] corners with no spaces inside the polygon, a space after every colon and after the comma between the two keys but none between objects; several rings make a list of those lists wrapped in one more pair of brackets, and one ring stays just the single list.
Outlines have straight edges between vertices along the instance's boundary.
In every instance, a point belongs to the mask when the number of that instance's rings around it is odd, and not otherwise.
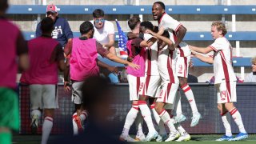
[{"label": "spectator in red cap and navy top with white lettering", "polygon": [[[66,43],[73,38],[73,33],[70,30],[70,25],[65,18],[58,17],[58,8],[54,4],[47,6],[47,17],[54,20],[54,30],[51,33],[52,38],[55,38],[64,47]],[[41,22],[38,23],[36,36],[42,36],[42,30],[40,29]]]}]

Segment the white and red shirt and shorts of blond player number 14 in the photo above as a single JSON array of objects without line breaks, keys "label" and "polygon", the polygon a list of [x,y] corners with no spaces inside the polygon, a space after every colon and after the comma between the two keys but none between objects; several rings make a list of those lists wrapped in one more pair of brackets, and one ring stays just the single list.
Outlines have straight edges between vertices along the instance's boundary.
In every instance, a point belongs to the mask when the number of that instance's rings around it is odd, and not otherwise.
[{"label": "white and red shirt and shorts of blond player number 14", "polygon": [[226,38],[217,38],[210,48],[214,50],[214,77],[218,103],[236,102],[236,80],[232,67],[232,46]]}]

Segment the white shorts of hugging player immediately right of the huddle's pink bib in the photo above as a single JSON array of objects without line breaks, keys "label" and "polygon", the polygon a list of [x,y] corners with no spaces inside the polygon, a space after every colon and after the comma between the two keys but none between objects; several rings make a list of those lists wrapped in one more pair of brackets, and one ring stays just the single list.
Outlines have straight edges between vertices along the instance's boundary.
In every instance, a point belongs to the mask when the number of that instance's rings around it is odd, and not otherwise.
[{"label": "white shorts of hugging player immediately right of the huddle's pink bib", "polygon": [[157,98],[160,93],[161,77],[159,75],[146,75],[140,84],[138,95]]}]

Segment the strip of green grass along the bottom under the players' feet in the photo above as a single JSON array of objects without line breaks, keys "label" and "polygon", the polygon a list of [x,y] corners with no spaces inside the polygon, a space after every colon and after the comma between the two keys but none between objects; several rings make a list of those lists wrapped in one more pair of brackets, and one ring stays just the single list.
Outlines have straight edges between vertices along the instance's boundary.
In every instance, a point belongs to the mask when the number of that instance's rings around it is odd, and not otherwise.
[{"label": "strip of green grass along the bottom under the players' feet", "polygon": [[[172,143],[189,143],[189,144],[194,144],[194,143],[206,143],[206,144],[228,144],[231,142],[215,142],[214,140],[217,138],[220,138],[222,135],[218,134],[201,134],[201,135],[191,135],[192,139],[188,142],[172,142]],[[58,137],[57,135],[51,135],[50,138],[56,138]],[[39,144],[41,140],[41,135],[31,135],[31,134],[14,134],[13,138],[13,143],[15,144]],[[165,142],[135,142],[135,143],[150,143],[150,144],[156,144],[156,143],[165,143]],[[246,143],[246,144],[255,144],[256,143],[256,134],[250,134],[249,138],[246,139],[245,141],[238,141],[234,143]]]}]

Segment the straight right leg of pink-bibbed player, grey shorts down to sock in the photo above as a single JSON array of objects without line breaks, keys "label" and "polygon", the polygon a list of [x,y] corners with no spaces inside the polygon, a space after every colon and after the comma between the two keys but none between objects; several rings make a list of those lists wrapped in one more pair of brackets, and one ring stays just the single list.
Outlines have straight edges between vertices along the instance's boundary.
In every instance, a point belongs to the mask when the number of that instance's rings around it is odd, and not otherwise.
[{"label": "straight right leg of pink-bibbed player, grey shorts down to sock", "polygon": [[58,108],[58,94],[56,85],[42,85],[42,106],[44,120],[42,124],[42,144],[46,144],[54,122],[54,109]]}]

